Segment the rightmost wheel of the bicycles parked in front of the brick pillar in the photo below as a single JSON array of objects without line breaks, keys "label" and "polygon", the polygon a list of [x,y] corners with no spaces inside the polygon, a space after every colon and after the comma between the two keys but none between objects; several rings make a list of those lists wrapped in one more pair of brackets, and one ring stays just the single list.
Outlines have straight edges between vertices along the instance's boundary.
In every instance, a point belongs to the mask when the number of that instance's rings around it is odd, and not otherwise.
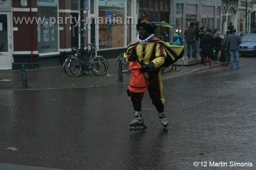
[{"label": "rightmost wheel of the bicycles parked in front of the brick pillar", "polygon": [[91,70],[96,76],[103,76],[108,70],[108,62],[103,57],[95,57],[91,61]]}]

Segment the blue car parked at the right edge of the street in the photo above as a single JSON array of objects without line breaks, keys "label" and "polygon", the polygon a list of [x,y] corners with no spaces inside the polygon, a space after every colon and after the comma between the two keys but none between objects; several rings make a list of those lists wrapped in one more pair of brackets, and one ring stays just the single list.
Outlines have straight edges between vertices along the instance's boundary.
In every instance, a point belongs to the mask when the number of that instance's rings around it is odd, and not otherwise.
[{"label": "blue car parked at the right edge of the street", "polygon": [[240,55],[256,55],[256,34],[241,34]]}]

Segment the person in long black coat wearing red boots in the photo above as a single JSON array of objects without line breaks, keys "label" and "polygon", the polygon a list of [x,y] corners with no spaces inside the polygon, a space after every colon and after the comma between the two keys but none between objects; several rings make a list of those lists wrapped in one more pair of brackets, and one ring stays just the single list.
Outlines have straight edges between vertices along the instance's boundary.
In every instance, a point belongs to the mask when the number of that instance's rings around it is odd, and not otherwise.
[{"label": "person in long black coat wearing red boots", "polygon": [[206,34],[203,36],[201,43],[202,43],[202,55],[204,58],[204,65],[207,66],[206,57],[208,57],[208,63],[209,63],[209,66],[211,66],[211,54],[215,46],[211,28],[208,28],[206,30]]}]

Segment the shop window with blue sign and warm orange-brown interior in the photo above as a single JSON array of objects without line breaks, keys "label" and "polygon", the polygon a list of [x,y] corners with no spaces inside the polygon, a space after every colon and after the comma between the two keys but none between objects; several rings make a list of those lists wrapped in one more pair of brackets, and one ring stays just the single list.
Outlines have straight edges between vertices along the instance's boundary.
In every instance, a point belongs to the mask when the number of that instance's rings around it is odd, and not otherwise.
[{"label": "shop window with blue sign and warm orange-brown interior", "polygon": [[99,4],[99,49],[124,46],[124,0],[111,2]]}]

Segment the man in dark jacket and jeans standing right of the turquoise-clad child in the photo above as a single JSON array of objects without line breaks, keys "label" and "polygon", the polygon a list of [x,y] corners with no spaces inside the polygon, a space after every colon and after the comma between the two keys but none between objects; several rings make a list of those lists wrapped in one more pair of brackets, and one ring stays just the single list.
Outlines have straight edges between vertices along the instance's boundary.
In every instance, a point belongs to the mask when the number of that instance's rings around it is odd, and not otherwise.
[{"label": "man in dark jacket and jeans standing right of the turquoise-clad child", "polygon": [[190,46],[192,46],[192,59],[196,59],[196,30],[193,22],[185,30],[184,35],[186,36],[188,59],[190,59]]}]

